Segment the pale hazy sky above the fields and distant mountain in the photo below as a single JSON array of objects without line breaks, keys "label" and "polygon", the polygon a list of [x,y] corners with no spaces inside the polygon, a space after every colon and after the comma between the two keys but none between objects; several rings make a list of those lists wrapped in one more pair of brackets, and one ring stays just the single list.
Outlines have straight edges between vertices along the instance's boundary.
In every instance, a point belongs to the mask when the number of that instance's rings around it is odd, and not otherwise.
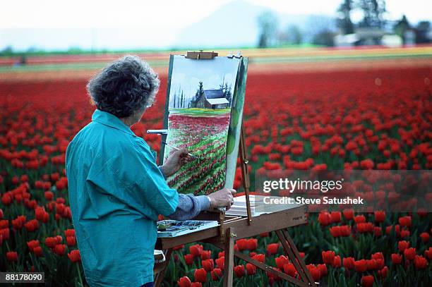
[{"label": "pale hazy sky above the fields and distant mountain", "polygon": [[[170,47],[182,29],[232,0],[38,0],[1,4],[0,49]],[[244,0],[287,14],[335,16],[342,0]],[[388,18],[432,20],[432,1],[388,0]],[[239,12],[241,13],[241,12]],[[354,18],[356,15],[353,15]],[[355,19],[354,19],[355,20]],[[145,35],[145,40],[137,32]],[[95,37],[97,34],[97,37]],[[111,38],[112,42],[97,42]],[[122,46],[123,44],[123,46]]]}]

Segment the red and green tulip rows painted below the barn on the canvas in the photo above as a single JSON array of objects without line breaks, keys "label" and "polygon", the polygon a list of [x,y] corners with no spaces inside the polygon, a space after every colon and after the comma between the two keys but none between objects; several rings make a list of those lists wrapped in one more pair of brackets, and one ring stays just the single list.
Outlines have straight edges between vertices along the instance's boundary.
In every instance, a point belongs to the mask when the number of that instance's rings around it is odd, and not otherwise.
[{"label": "red and green tulip rows painted below the barn on the canvas", "polygon": [[[203,195],[224,186],[229,113],[231,109],[179,109],[169,114],[167,138],[174,147],[186,147],[191,154],[187,164],[167,178],[179,193]],[[166,146],[167,156],[173,149]]]}]

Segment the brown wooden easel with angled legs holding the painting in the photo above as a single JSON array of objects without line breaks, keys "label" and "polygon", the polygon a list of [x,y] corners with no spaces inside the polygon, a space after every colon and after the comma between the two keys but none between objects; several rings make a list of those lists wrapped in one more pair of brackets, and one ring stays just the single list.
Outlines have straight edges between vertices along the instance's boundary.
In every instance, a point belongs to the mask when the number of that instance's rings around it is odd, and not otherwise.
[{"label": "brown wooden easel with angled legs holding the painting", "polygon": [[[190,57],[189,59],[212,59],[214,56],[217,56],[217,53],[203,51],[188,52],[186,58],[188,58],[188,56]],[[299,250],[297,250],[294,241],[289,236],[287,231],[288,227],[306,224],[306,206],[301,205],[292,209],[285,209],[280,212],[262,214],[255,217],[252,217],[251,215],[251,202],[249,200],[250,181],[243,122],[241,124],[239,157],[241,163],[242,183],[246,197],[247,216],[225,216],[225,213],[220,211],[202,212],[196,217],[196,219],[217,220],[220,225],[214,228],[205,229],[203,231],[188,233],[184,236],[173,238],[157,238],[155,248],[164,250],[166,260],[164,262],[164,267],[162,267],[162,271],[157,273],[155,276],[155,286],[162,286],[164,273],[172,255],[172,248],[178,245],[193,243],[196,241],[211,243],[217,248],[224,250],[224,287],[233,286],[234,256],[255,265],[263,271],[267,271],[268,273],[271,273],[275,276],[279,276],[285,281],[294,283],[296,286],[316,286],[311,273],[306,268],[306,264],[299,254]],[[289,257],[292,264],[294,264],[294,267],[299,274],[299,279],[288,276],[281,271],[277,271],[266,264],[248,257],[244,253],[234,250],[235,240],[258,236],[266,232],[276,233],[277,238],[279,238],[280,243],[282,243],[284,252]]]}]

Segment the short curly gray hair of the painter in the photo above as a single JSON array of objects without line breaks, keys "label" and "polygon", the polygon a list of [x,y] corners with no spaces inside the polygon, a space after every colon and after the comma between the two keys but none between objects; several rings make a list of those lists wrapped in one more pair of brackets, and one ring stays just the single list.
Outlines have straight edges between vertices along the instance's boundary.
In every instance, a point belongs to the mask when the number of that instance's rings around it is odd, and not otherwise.
[{"label": "short curly gray hair of the painter", "polygon": [[151,106],[159,85],[157,73],[148,63],[126,55],[93,76],[87,90],[97,109],[126,118]]}]

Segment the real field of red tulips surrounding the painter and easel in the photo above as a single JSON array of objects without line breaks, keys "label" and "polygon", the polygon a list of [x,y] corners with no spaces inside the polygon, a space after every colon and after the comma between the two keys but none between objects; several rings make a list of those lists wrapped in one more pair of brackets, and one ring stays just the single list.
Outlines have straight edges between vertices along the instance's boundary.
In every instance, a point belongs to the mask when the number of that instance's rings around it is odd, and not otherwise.
[{"label": "real field of red tulips surrounding the painter and easel", "polygon": [[[371,68],[326,60],[305,64],[307,71],[252,59],[244,108],[252,175],[432,169],[428,53],[415,64],[377,56]],[[20,71],[25,80],[0,72],[0,271],[44,271],[47,286],[87,286],[64,171],[68,142],[95,109],[85,92],[87,78],[82,71],[76,77],[69,71],[66,78]],[[160,137],[146,130],[162,127],[166,74],[160,78],[157,102],[132,128],[157,152]],[[234,185],[241,194],[240,168]],[[432,286],[431,213],[310,213],[308,224],[289,233],[320,286]],[[222,250],[203,243],[174,249],[164,286],[222,286]],[[275,234],[236,240],[235,249],[298,277]],[[240,259],[233,271],[234,286],[288,286]]]}]

